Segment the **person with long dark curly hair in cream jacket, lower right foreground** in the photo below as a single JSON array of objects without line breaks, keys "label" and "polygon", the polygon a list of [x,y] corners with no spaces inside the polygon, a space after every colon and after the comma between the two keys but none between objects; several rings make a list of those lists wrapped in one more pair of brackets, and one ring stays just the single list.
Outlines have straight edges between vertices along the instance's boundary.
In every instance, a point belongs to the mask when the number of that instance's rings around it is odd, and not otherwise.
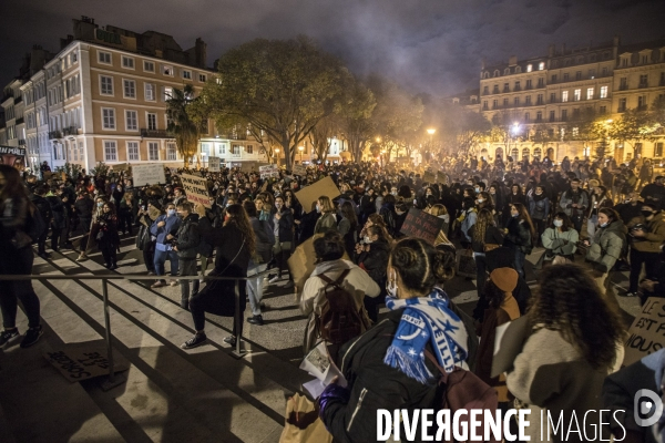
[{"label": "person with long dark curly hair in cream jacket, lower right foreground", "polygon": [[[586,442],[585,435],[600,432],[600,422],[611,421],[586,412],[603,409],[601,389],[621,367],[625,329],[593,278],[575,265],[545,268],[539,287],[529,311],[531,333],[507,373],[508,390],[531,409],[526,435],[532,442],[545,441],[541,426],[549,441]],[[554,431],[548,412],[563,423],[575,420],[573,414],[585,420],[579,420],[580,432],[569,433],[566,425]]]}]

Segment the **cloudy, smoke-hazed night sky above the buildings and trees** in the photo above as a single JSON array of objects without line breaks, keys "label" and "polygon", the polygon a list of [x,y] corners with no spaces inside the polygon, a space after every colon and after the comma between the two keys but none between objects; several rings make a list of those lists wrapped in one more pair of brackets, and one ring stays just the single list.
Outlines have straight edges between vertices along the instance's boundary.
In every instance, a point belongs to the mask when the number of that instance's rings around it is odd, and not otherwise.
[{"label": "cloudy, smoke-hazed night sky above the buildings and trees", "polygon": [[255,38],[307,34],[357,74],[378,72],[411,92],[447,95],[478,87],[489,62],[546,54],[548,45],[623,43],[665,37],[663,0],[20,0],[0,1],[0,83],[18,74],[33,44],[58,51],[72,18],[197,37],[212,66]]}]

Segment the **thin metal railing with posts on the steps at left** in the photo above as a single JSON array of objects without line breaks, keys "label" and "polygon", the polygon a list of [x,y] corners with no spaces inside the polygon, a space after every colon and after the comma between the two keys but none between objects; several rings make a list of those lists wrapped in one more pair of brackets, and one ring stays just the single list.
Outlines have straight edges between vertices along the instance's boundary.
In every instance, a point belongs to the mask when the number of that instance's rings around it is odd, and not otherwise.
[{"label": "thin metal railing with posts on the steps at left", "polygon": [[[247,353],[246,350],[242,349],[241,342],[243,340],[242,326],[243,326],[243,312],[241,312],[241,281],[247,281],[254,278],[263,278],[265,275],[268,275],[270,270],[265,270],[263,272],[257,272],[249,277],[216,277],[216,276],[204,276],[203,279],[205,281],[217,281],[217,280],[226,280],[226,281],[235,281],[234,292],[235,292],[235,315],[234,315],[234,324],[236,330],[236,343],[235,349],[231,352],[233,357],[236,359],[242,359]],[[115,388],[125,382],[125,379],[115,374],[114,362],[113,362],[113,346],[112,339],[113,336],[111,333],[111,317],[109,313],[109,280],[152,280],[160,277],[165,276],[136,276],[136,275],[109,275],[109,276],[33,276],[33,275],[0,275],[0,281],[17,281],[17,280],[102,280],[102,300],[104,303],[104,341],[106,342],[106,359],[109,360],[109,378],[106,381],[102,382],[102,389],[108,391],[112,388]],[[198,280],[201,276],[178,276],[178,280]]]}]

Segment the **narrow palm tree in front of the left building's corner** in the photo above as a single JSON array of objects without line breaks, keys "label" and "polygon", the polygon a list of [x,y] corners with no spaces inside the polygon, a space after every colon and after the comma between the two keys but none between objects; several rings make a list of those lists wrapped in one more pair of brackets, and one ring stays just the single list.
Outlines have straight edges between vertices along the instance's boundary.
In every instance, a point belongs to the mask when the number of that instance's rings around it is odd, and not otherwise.
[{"label": "narrow palm tree in front of the left building's corner", "polygon": [[167,130],[175,138],[185,167],[198,152],[201,128],[207,124],[206,115],[195,105],[198,100],[200,97],[194,97],[194,86],[185,84],[182,90],[173,89],[171,97],[166,101]]}]

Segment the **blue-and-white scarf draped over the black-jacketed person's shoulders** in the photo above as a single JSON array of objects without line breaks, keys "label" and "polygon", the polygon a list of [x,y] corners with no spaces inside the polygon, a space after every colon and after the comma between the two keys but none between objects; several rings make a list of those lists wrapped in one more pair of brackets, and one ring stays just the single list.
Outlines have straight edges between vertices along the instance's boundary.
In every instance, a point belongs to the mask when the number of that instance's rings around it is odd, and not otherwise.
[{"label": "blue-and-white scarf draped over the black-jacketed person's shoulders", "polygon": [[405,312],[383,362],[424,384],[433,378],[424,364],[424,347],[429,341],[446,372],[462,365],[468,356],[468,334],[462,320],[448,307],[449,302],[439,288],[427,297],[386,297],[388,309]]}]

